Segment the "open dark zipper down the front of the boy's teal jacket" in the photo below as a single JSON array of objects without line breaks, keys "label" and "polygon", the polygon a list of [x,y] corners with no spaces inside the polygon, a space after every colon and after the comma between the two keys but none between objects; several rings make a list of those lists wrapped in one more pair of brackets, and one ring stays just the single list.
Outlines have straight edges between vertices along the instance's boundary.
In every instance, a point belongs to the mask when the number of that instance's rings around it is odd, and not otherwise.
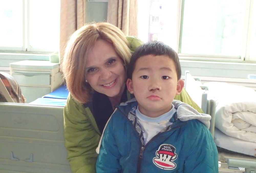
[{"label": "open dark zipper down the front of the boy's teal jacket", "polygon": [[[121,112],[122,115],[128,120],[128,122],[131,123],[131,121],[126,117],[126,115],[125,115],[118,107],[117,107],[117,109],[118,109],[119,112]],[[184,124],[179,125],[179,126],[173,128],[173,129],[169,129],[168,131],[178,129],[178,128],[180,128],[180,127],[186,125],[186,124],[187,124],[187,123],[184,123]],[[133,124],[132,124],[132,126],[133,126]],[[138,132],[137,132],[134,128],[132,128],[132,129],[133,129],[133,130],[136,132],[136,134],[138,135]],[[165,132],[167,132],[167,131],[165,131]],[[165,133],[165,132],[159,132],[159,133],[157,133],[157,134],[156,134],[155,136],[153,136],[153,137],[151,138],[151,140],[149,140],[148,143],[147,143],[146,145],[144,145],[144,146],[142,146],[142,143],[140,142],[140,154],[139,154],[139,157],[138,157],[137,173],[140,173],[140,172],[141,172],[141,163],[142,163],[143,152],[144,152],[145,148],[148,146],[148,144],[149,144],[156,136],[158,136],[158,135],[160,135],[160,134],[162,134],[162,133]],[[138,135],[138,138],[139,138],[139,140],[140,140],[140,136],[139,136],[139,135]]]}]

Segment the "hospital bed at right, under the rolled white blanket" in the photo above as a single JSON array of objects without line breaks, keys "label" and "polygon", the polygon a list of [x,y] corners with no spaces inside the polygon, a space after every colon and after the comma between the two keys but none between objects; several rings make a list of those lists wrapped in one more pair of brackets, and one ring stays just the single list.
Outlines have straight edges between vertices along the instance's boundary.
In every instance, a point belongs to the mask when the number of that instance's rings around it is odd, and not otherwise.
[{"label": "hospital bed at right, under the rolled white blanket", "polygon": [[221,165],[219,172],[255,173],[256,144],[228,136],[217,128],[214,128],[216,102],[214,100],[207,100],[207,95],[210,92],[209,88],[202,85],[199,78],[191,76],[189,71],[185,72],[185,89],[202,110],[212,117],[209,130],[214,136],[214,142],[218,147],[218,160],[221,162],[219,164]]}]

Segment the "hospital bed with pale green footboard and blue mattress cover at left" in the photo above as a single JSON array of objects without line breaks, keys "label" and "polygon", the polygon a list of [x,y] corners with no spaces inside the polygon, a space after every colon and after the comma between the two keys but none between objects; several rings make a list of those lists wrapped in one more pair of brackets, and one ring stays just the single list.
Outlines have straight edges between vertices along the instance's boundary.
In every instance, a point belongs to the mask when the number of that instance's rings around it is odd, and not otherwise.
[{"label": "hospital bed with pale green footboard and blue mattress cover at left", "polygon": [[63,127],[68,91],[61,89],[30,104],[0,102],[1,173],[71,172]]}]

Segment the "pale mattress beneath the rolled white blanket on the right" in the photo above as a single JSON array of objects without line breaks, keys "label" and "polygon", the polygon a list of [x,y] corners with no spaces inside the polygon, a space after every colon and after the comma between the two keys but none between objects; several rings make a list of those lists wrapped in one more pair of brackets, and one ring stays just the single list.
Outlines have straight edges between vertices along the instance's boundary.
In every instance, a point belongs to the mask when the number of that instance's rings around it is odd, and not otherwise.
[{"label": "pale mattress beneath the rolled white blanket on the right", "polygon": [[244,141],[214,130],[214,142],[218,147],[256,157],[256,143]]}]

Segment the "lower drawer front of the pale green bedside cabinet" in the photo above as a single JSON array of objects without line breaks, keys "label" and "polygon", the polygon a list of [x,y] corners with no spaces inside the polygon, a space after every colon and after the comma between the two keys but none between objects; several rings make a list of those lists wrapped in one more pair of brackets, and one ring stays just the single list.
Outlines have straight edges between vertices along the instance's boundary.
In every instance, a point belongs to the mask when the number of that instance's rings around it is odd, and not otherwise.
[{"label": "lower drawer front of the pale green bedside cabinet", "polygon": [[20,86],[21,92],[26,98],[26,103],[30,103],[51,92],[50,87],[28,87]]}]

